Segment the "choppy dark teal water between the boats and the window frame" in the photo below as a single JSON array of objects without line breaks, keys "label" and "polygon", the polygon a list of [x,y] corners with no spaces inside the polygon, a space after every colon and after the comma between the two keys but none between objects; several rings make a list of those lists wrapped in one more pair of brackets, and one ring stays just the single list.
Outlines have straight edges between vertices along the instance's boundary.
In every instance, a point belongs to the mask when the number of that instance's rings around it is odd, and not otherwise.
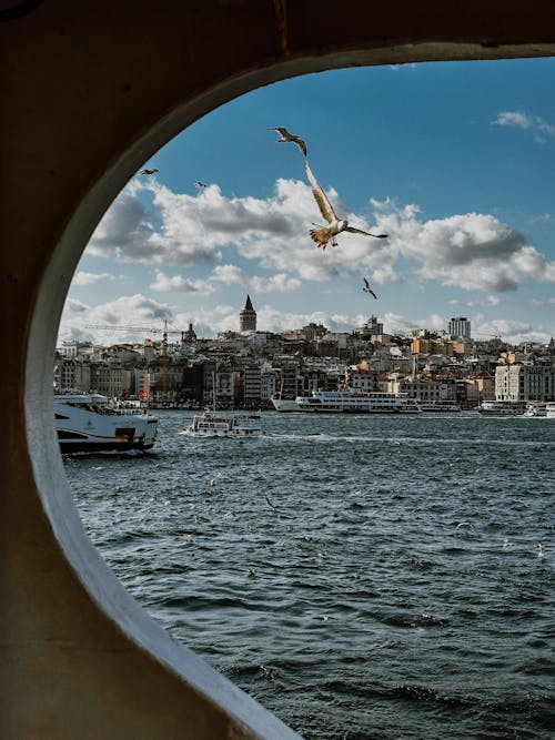
[{"label": "choppy dark teal water between the boats and the window frame", "polygon": [[555,420],[159,416],[154,454],[65,469],[172,637],[306,739],[554,738]]}]

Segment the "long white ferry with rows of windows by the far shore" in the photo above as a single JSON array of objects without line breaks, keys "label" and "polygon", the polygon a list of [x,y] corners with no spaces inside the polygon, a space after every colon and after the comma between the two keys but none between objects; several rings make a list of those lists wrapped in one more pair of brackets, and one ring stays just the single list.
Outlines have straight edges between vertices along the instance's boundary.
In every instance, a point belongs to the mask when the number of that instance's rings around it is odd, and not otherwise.
[{"label": "long white ferry with rows of windows by the far shore", "polygon": [[421,407],[403,394],[361,393],[346,391],[314,391],[311,396],[297,396],[301,412],[326,414],[421,414]]}]

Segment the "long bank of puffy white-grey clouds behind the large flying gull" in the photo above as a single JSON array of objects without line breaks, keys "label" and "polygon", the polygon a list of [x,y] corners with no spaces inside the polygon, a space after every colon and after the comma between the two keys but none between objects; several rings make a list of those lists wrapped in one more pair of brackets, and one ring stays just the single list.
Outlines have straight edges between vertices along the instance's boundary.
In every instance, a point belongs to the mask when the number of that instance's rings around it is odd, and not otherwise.
[{"label": "long bank of puffy white-grey clouds behind the large flying gull", "polygon": [[[309,230],[322,217],[310,186],[300,180],[278,180],[266,199],[228,197],[218,185],[186,195],[149,180],[127,186],[88,249],[94,255],[165,267],[213,265],[204,284],[160,272],[152,286],[158,291],[208,293],[211,282],[221,282],[283,292],[299,290],[303,281],[367,275],[382,285],[417,278],[422,285],[436,282],[494,295],[525,281],[555,282],[555,262],[494,215],[426,221],[415,204],[371,199],[371,222],[342,204],[334,190],[329,195],[350,223],[390,237],[341,234],[337,247],[316,249]],[[241,267],[232,264],[238,254]]]}]

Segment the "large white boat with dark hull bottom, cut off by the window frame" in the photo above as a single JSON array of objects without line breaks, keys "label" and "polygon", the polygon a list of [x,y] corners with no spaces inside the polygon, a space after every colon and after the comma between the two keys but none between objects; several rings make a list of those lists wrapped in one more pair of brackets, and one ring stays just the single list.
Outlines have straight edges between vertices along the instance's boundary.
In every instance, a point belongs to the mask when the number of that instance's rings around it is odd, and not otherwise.
[{"label": "large white boat with dark hull bottom, cut off by the window frame", "polygon": [[60,450],[69,453],[152,449],[158,418],[140,408],[118,407],[99,393],[54,394]]}]

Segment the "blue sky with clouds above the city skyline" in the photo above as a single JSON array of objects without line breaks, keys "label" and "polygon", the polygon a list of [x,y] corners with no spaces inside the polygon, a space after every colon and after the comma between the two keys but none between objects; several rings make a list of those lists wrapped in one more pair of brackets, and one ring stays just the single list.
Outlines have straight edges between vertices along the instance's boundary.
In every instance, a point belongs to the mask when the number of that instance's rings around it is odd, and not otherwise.
[{"label": "blue sky with clouds above the city skyline", "polygon": [[[548,341],[555,333],[555,59],[356,68],[248,93],[195,122],[134,176],[87,246],[60,341],[141,341],[239,328],[246,294],[258,328],[311,321],[351,331],[446,328]],[[387,240],[311,241],[322,216],[304,139],[336,212]],[[202,181],[208,187],[199,189]],[[366,276],[377,300],[363,293]]]}]

